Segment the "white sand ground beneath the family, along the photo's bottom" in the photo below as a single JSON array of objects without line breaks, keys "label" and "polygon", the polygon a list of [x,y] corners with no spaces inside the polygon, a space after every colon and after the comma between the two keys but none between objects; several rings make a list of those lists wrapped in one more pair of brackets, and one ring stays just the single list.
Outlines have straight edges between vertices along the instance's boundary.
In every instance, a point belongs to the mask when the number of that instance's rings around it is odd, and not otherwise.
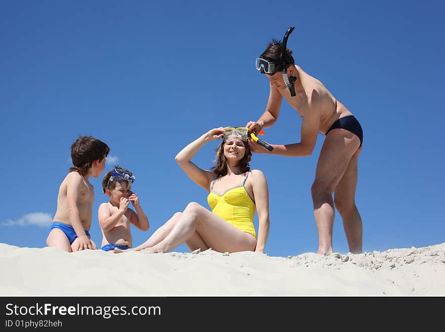
[{"label": "white sand ground beneath the family, along the photo's bottom", "polygon": [[287,258],[0,244],[0,262],[0,296],[445,296],[445,243]]}]

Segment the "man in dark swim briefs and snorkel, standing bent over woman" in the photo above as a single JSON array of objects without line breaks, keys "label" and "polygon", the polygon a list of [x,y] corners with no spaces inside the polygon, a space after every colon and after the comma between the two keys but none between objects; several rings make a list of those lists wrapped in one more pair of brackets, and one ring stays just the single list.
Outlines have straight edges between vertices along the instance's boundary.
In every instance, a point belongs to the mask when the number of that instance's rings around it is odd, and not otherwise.
[{"label": "man in dark swim briefs and snorkel, standing bent over woman", "polygon": [[[273,145],[268,151],[249,139],[252,152],[289,157],[310,155],[318,133],[326,135],[311,187],[314,215],[319,235],[319,254],[332,249],[334,205],[343,219],[343,227],[351,253],[362,252],[362,218],[355,206],[357,161],[362,151],[363,131],[360,123],[318,79],[295,65],[286,48],[290,27],[283,42],[273,39],[256,59],[256,69],[270,80],[270,94],[265,112],[256,121],[247,123],[251,132],[259,133],[278,119],[284,98],[303,118],[300,143]],[[282,52],[284,50],[284,52]],[[334,199],[332,199],[334,193]]]}]

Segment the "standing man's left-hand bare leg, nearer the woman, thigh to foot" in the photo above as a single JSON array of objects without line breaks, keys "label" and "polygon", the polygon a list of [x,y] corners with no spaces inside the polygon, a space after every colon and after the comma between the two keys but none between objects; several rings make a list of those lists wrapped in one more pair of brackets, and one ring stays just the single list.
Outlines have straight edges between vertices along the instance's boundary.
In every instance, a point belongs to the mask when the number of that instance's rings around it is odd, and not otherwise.
[{"label": "standing man's left-hand bare leg, nearer the woman, thigh to foot", "polygon": [[350,131],[333,129],[326,136],[311,187],[314,216],[319,234],[318,254],[329,254],[332,248],[334,202],[332,193],[345,173],[349,160],[360,146],[360,139]]}]

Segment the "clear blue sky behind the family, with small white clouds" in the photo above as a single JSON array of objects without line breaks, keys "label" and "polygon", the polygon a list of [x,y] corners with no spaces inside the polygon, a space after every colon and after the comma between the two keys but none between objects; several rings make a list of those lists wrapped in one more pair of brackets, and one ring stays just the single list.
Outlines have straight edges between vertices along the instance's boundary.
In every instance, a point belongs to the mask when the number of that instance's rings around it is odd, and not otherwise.
[{"label": "clear blue sky behind the family, with small white clouds", "polygon": [[[174,162],[207,130],[243,126],[264,111],[268,80],[254,61],[295,26],[288,47],[361,122],[356,201],[363,250],[444,242],[442,147],[445,48],[439,1],[56,2],[0,4],[3,189],[0,243],[44,247],[67,174],[70,146],[93,135],[133,171],[151,227],[145,241],[207,193]],[[301,118],[283,103],[263,138],[296,143]],[[270,191],[270,256],[316,252],[310,185],[323,144],[311,156],[254,155]],[[212,166],[216,142],[193,159]],[[103,173],[105,175],[105,172]],[[100,244],[96,201],[90,232]],[[255,216],[255,227],[258,227]],[[347,253],[340,216],[334,251]],[[188,251],[185,245],[175,251]]]}]

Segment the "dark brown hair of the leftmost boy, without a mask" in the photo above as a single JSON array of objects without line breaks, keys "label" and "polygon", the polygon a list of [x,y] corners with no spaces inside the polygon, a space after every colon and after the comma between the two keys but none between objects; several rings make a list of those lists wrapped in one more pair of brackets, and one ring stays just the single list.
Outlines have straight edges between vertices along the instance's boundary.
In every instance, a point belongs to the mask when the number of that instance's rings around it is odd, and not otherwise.
[{"label": "dark brown hair of the leftmost boy, without a mask", "polygon": [[78,172],[80,175],[88,173],[95,160],[102,161],[110,148],[101,140],[93,136],[79,136],[71,145],[71,160],[74,167],[70,167],[70,172]]}]

